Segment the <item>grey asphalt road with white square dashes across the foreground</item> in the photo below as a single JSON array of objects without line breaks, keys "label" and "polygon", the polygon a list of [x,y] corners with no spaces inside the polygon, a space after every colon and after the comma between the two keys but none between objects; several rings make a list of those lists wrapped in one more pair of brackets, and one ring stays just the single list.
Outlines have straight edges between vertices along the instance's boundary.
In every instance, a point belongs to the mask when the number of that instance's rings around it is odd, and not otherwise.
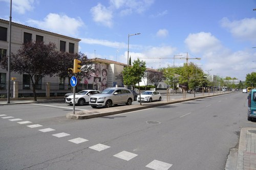
[{"label": "grey asphalt road with white square dashes across the foreground", "polygon": [[256,127],[246,106],[235,92],[76,120],[62,103],[2,105],[0,169],[224,169],[241,127]]}]

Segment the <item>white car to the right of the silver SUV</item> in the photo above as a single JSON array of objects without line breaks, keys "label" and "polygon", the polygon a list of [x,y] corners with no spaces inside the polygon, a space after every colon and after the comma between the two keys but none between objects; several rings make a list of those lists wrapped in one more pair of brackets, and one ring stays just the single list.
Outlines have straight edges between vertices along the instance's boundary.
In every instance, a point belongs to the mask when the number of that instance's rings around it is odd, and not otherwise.
[{"label": "white car to the right of the silver SUV", "polygon": [[138,95],[138,102],[152,102],[152,101],[161,101],[162,96],[158,91],[144,91],[140,95]]}]

